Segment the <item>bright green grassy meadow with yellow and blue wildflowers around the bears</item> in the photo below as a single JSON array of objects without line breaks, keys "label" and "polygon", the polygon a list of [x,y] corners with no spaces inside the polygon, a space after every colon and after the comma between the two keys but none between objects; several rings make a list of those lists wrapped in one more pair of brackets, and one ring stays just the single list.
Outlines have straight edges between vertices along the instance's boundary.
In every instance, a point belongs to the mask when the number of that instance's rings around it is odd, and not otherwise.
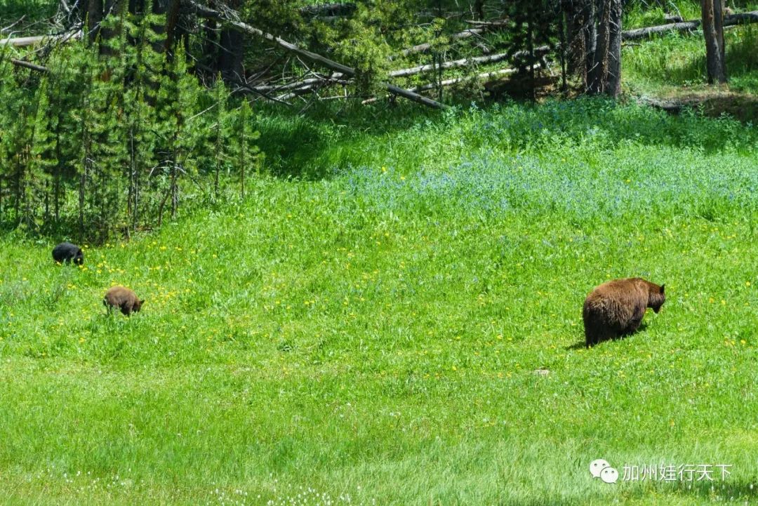
[{"label": "bright green grassy meadow with yellow and blue wildflowers around the bears", "polygon": [[[383,114],[261,113],[245,201],[83,267],[0,236],[0,502],[758,501],[753,127]],[[584,349],[585,295],[627,276],[666,304]],[[113,284],[143,311],[107,317]],[[731,475],[610,485],[596,458]]]}]

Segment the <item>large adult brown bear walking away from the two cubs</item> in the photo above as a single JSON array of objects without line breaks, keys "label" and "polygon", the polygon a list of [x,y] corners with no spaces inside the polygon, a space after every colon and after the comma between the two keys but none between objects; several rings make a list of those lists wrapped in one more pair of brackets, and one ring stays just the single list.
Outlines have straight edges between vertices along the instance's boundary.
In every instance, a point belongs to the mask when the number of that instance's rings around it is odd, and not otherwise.
[{"label": "large adult brown bear walking away from the two cubs", "polygon": [[582,311],[587,348],[634,333],[647,308],[660,311],[666,301],[664,286],[633,277],[603,283],[590,292]]}]

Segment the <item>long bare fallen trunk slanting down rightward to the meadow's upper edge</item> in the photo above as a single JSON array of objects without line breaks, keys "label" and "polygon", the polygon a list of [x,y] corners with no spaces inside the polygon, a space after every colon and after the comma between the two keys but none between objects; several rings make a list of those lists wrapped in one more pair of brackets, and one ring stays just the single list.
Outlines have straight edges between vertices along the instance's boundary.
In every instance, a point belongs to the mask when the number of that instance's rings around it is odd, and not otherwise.
[{"label": "long bare fallen trunk slanting down rightward to the meadow's upper edge", "polygon": [[[259,30],[258,28],[252,27],[247,23],[243,23],[242,21],[231,20],[228,17],[222,15],[220,12],[215,11],[211,8],[208,8],[205,5],[201,5],[197,2],[193,2],[193,0],[187,0],[186,3],[187,5],[189,5],[190,8],[192,8],[195,14],[201,17],[209,17],[211,19],[219,20],[224,23],[227,23],[230,27],[236,28],[236,30],[242,30],[243,32],[250,33],[251,35],[262,37],[263,39],[266,39],[269,42],[273,42],[274,44],[278,45],[280,48],[287,50],[288,52],[295,53],[300,58],[305,58],[306,60],[321,64],[324,67],[343,73],[346,76],[354,77],[356,75],[356,69],[352,67],[348,67],[347,65],[340,64],[337,61],[330,60],[329,58],[326,58],[321,55],[317,55],[314,52],[310,52],[305,49],[299,48],[297,45],[294,45],[292,42],[287,42],[281,37],[274,36],[271,33],[266,33],[263,30]],[[440,102],[434,101],[431,98],[418,95],[418,93],[409,92],[407,89],[402,89],[399,86],[395,86],[390,83],[382,83],[381,86],[384,86],[384,88],[387,89],[387,91],[394,93],[396,95],[400,95],[404,98],[408,98],[409,100],[412,100],[413,102],[417,102],[423,105],[428,105],[429,107],[432,107],[432,108],[438,108],[438,109],[443,108],[443,105],[440,104]]]}]

